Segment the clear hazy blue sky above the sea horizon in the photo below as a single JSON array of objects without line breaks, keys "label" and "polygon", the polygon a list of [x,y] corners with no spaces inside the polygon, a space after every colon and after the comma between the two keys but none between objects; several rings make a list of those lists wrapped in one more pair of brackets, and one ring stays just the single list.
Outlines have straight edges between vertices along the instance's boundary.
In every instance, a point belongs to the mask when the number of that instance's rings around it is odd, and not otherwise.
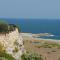
[{"label": "clear hazy blue sky above the sea horizon", "polygon": [[60,0],[0,0],[0,18],[60,19]]}]

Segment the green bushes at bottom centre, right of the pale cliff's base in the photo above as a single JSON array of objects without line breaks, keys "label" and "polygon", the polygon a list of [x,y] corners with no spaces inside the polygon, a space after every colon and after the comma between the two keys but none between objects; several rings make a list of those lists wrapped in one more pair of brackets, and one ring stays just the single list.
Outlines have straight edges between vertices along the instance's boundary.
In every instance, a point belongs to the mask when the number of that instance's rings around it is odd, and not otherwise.
[{"label": "green bushes at bottom centre, right of the pale cliff's base", "polygon": [[22,60],[43,60],[41,55],[39,56],[37,54],[31,54],[31,53],[23,54],[21,56],[21,59]]}]

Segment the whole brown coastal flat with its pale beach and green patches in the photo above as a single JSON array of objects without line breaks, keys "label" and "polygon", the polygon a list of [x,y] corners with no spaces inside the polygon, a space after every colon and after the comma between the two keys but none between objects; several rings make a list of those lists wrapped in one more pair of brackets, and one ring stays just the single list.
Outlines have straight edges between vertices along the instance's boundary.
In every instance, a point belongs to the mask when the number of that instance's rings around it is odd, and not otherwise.
[{"label": "whole brown coastal flat with its pale beach and green patches", "polygon": [[31,33],[21,33],[21,35],[26,52],[41,55],[44,60],[45,58],[58,60],[60,57],[60,40],[35,38],[31,36]]}]

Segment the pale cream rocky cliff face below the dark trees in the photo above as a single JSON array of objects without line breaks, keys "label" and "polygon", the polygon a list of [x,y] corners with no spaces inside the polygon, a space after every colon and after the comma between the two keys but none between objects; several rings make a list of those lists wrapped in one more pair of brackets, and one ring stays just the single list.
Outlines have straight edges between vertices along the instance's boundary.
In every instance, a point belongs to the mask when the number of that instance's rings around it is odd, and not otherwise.
[{"label": "pale cream rocky cliff face below the dark trees", "polygon": [[25,52],[23,38],[18,28],[9,33],[0,33],[0,43],[4,45],[6,52],[11,54],[16,60],[19,60],[20,56]]}]

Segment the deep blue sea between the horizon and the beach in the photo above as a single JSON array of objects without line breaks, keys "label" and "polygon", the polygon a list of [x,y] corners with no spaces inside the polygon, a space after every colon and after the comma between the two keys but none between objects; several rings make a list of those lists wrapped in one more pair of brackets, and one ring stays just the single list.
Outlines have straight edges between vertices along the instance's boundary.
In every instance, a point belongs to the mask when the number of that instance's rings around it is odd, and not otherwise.
[{"label": "deep blue sea between the horizon and the beach", "polygon": [[19,25],[23,33],[51,33],[51,36],[38,38],[60,40],[60,19],[0,19]]}]

